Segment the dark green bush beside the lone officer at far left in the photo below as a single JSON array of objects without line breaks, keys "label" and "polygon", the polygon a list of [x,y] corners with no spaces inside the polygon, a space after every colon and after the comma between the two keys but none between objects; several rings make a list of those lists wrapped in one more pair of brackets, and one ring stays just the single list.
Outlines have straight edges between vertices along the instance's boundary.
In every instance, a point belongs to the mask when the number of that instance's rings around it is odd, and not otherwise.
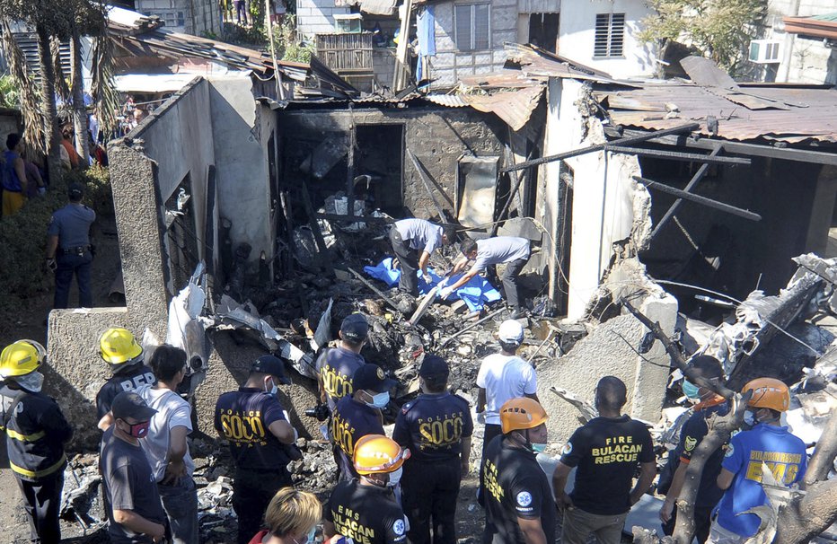
[{"label": "dark green bush beside the lone officer at far left", "polygon": [[97,215],[113,215],[110,173],[93,167],[65,174],[50,185],[46,195],[32,198],[17,214],[0,219],[0,304],[22,303],[49,288],[51,274],[44,268],[47,227],[52,213],[66,205],[66,188],[74,181],[87,187],[84,202]]}]

